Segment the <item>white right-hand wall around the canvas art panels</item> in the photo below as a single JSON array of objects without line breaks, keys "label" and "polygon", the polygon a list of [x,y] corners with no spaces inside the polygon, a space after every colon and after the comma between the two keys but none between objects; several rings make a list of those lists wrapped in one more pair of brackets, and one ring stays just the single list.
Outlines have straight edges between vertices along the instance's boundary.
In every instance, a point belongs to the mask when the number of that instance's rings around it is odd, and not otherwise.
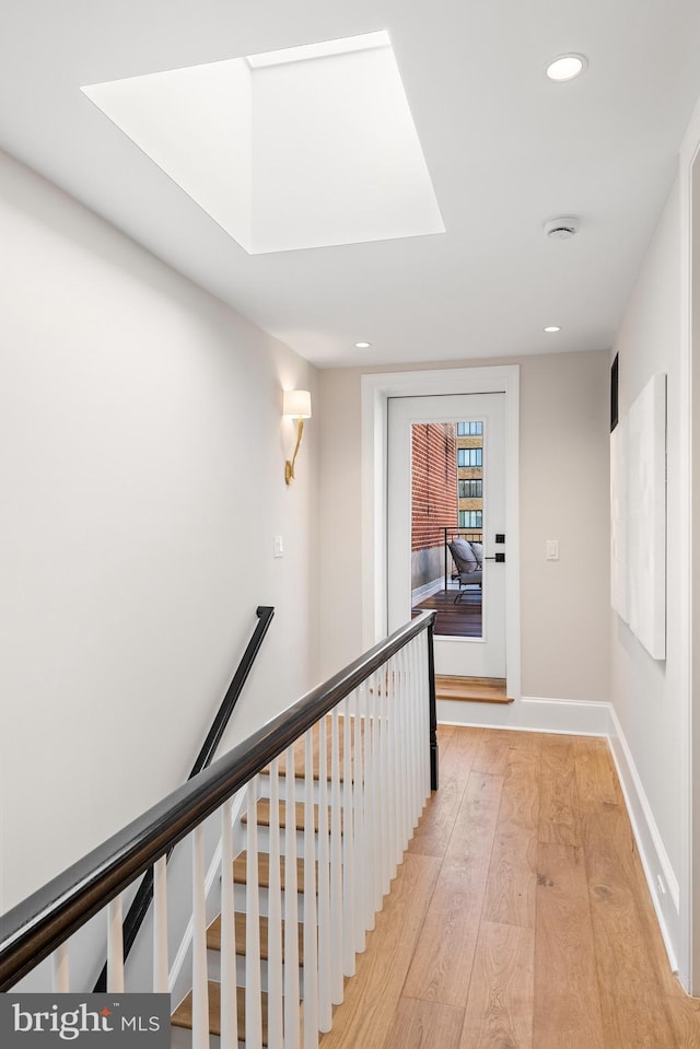
[{"label": "white right-hand wall around the canvas art panels", "polygon": [[[676,185],[661,217],[639,273],[616,339],[619,354],[619,408],[631,403],[657,372],[667,374],[667,657],[653,660],[625,623],[612,614],[611,699],[623,739],[635,770],[638,793],[646,806],[646,823],[655,836],[657,856],[666,882],[682,884],[689,772],[687,754],[688,709],[682,687],[687,611],[682,604],[680,555],[685,505],[680,474],[680,203]],[[665,551],[660,550],[658,557]],[[665,870],[664,870],[665,867]],[[656,871],[651,871],[655,878]],[[662,901],[663,902],[663,901]],[[667,908],[670,901],[666,901]],[[667,921],[678,951],[678,914]],[[675,929],[674,929],[675,926]]]}]

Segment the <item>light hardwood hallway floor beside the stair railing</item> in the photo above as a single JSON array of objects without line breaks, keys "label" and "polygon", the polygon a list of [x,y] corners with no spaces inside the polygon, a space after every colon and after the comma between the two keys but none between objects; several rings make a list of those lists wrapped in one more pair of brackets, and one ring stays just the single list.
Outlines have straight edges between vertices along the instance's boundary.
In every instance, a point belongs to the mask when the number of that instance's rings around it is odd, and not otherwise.
[{"label": "light hardwood hallway floor beside the stair railing", "polygon": [[606,742],[439,738],[440,790],[322,1049],[700,1049]]}]

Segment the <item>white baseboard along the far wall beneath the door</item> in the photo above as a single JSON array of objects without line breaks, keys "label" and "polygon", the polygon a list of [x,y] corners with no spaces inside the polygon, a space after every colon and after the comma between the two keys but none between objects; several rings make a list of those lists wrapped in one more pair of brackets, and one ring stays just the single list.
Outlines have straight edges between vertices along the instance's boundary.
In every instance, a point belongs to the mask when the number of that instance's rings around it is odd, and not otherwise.
[{"label": "white baseboard along the far wall beneath the door", "polygon": [[481,729],[520,729],[576,736],[608,736],[610,704],[569,699],[523,697],[508,706],[438,700],[438,721],[443,725],[478,725]]}]

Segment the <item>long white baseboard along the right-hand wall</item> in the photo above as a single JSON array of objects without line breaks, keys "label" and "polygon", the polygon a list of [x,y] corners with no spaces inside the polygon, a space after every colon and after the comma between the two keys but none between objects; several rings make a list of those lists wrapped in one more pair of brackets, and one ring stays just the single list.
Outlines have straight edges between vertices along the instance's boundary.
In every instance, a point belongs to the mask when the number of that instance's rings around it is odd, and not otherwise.
[{"label": "long white baseboard along the right-hand wall", "polygon": [[[610,708],[610,749],[617,768],[625,803],[632,824],[642,867],[651,893],[652,902],[664,945],[674,972],[678,971],[678,957],[682,943],[680,925],[680,888],[662,836],[656,826],[649,799],[642,785],[634,759],[625,738],[622,726],[615,709]],[[666,888],[662,894],[658,877]]]}]

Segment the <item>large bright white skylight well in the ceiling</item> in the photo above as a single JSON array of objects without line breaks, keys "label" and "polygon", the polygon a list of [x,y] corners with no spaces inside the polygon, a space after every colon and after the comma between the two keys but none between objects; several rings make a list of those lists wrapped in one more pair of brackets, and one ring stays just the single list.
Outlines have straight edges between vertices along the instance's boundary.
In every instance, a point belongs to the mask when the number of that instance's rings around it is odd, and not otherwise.
[{"label": "large bright white skylight well in the ceiling", "polygon": [[249,254],[444,232],[384,32],[82,90]]}]

